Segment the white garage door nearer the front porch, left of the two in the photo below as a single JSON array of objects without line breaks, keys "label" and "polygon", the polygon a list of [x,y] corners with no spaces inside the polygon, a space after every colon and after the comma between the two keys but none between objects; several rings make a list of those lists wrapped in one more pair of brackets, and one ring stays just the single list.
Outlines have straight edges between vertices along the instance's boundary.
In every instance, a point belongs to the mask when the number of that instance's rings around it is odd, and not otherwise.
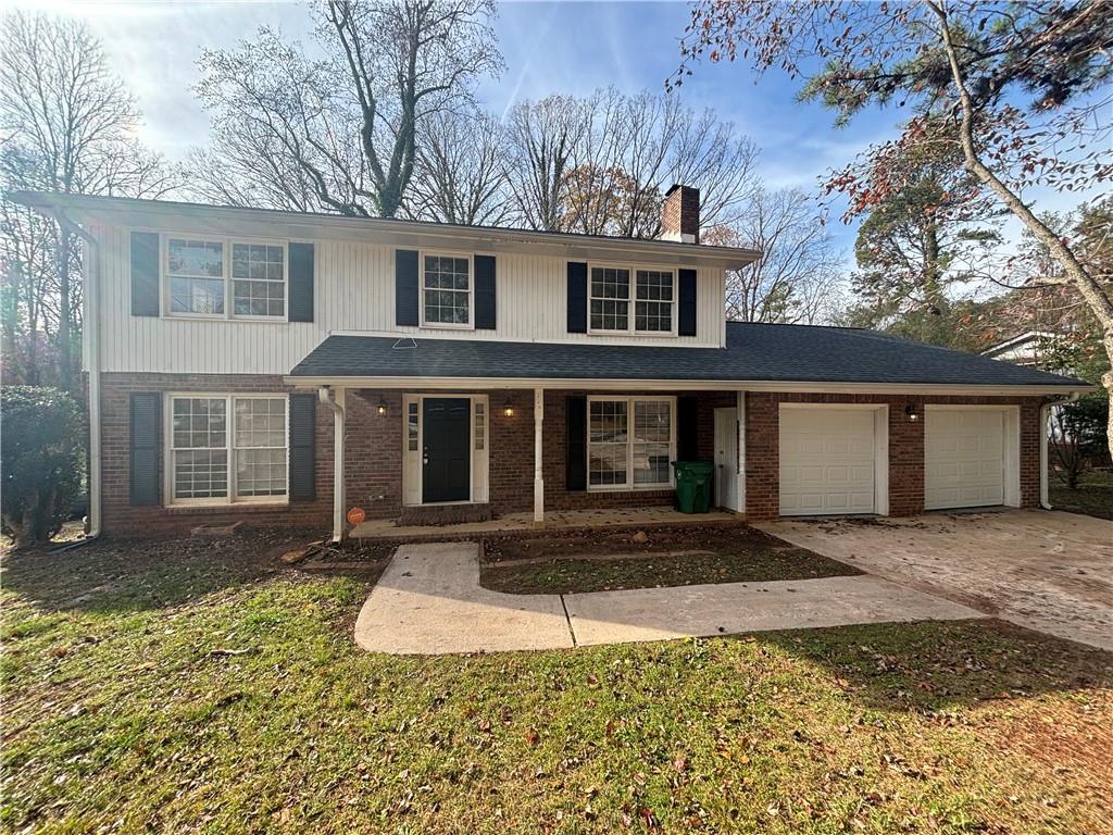
[{"label": "white garage door nearer the front porch, left of the two", "polygon": [[781,407],[781,515],[875,512],[874,414]]}]

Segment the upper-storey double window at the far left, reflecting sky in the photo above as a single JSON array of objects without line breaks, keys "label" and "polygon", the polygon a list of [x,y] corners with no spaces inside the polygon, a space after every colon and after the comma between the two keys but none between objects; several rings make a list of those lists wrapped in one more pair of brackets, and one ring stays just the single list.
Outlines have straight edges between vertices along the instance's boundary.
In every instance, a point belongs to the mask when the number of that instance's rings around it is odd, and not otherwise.
[{"label": "upper-storey double window at the far left, reflecting sky", "polygon": [[286,316],[285,244],[171,235],[165,271],[171,316]]}]

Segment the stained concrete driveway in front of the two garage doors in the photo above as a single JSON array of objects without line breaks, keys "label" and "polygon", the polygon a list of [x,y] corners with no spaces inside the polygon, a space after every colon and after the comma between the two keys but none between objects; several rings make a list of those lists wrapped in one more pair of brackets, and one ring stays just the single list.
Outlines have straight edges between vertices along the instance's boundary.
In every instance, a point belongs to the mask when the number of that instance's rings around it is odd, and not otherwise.
[{"label": "stained concrete driveway in front of the two garage doors", "polygon": [[904,586],[1113,650],[1113,522],[1056,511],[756,525]]}]

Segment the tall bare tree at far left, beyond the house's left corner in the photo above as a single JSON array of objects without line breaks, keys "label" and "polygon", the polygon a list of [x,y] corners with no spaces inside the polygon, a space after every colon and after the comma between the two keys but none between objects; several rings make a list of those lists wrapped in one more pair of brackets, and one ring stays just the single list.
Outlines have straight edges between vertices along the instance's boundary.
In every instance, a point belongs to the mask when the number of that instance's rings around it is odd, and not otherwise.
[{"label": "tall bare tree at far left, beyond the house's left corner", "polygon": [[[11,12],[0,26],[0,179],[6,191],[158,197],[176,173],[131,135],[130,94],[81,23]],[[3,200],[3,346],[30,382],[76,385],[81,282],[77,242],[58,224]],[[53,343],[57,373],[40,367]],[[22,346],[22,350],[20,350]]]}]

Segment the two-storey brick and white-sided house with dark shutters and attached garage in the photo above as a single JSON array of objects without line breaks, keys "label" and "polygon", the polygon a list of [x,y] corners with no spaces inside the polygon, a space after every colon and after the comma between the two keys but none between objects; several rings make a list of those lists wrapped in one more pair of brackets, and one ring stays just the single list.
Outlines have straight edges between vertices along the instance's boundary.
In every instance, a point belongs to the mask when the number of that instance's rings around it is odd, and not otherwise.
[{"label": "two-storey brick and white-sided house with dark shutters and attached garage", "polygon": [[91,528],[411,523],[672,501],[748,519],[1034,507],[1084,384],[869,331],[728,323],[663,239],[23,193],[87,240]]}]

